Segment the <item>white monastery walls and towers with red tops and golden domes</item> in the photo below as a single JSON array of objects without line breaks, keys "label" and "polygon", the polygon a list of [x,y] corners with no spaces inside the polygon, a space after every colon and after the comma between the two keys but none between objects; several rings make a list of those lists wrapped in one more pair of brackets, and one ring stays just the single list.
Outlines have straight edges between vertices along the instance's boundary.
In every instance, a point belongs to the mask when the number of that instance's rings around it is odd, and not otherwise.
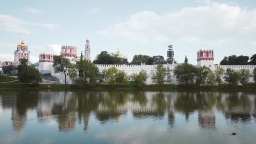
[{"label": "white monastery walls and towers with red tops and golden domes", "polygon": [[[91,61],[91,48],[90,48],[90,41],[86,40],[85,51],[84,51],[84,58],[88,61]],[[225,70],[227,68],[239,70],[239,69],[249,69],[250,72],[253,72],[253,69],[256,68],[256,65],[214,65],[214,51],[213,50],[200,50],[197,51],[197,65],[196,67],[206,66],[209,67],[211,70],[215,70],[217,67],[222,67]],[[28,51],[28,46],[24,44],[24,41],[21,44],[17,45],[17,50],[15,51],[15,59],[14,61],[0,61],[0,71],[2,67],[10,66],[10,65],[19,65],[20,59],[27,59],[29,61],[30,52]],[[73,64],[75,64],[75,58],[77,57],[77,48],[72,45],[62,45],[61,46],[61,56],[69,59]],[[124,56],[120,49],[115,53],[115,56],[120,58],[127,58]],[[62,72],[55,73],[53,69],[53,61],[54,55],[41,53],[39,55],[39,62],[34,64],[34,66],[39,70],[39,72],[43,75],[43,82],[45,83],[60,83],[64,84],[64,74]],[[28,62],[30,65],[31,62]],[[164,67],[169,67],[170,69],[174,69],[179,64],[164,64]],[[123,70],[128,75],[133,73],[139,73],[141,69],[147,71],[147,74],[150,75],[150,72],[156,67],[156,65],[125,65],[125,64],[96,64],[96,67],[99,68],[99,71],[102,72],[104,69],[109,69],[110,67],[115,67],[119,70]],[[253,82],[253,78],[251,77],[249,82]],[[72,84],[74,83],[72,79],[67,76],[67,83]],[[177,84],[175,77],[173,77],[173,84]],[[147,79],[147,84],[152,84],[150,77]]]}]

